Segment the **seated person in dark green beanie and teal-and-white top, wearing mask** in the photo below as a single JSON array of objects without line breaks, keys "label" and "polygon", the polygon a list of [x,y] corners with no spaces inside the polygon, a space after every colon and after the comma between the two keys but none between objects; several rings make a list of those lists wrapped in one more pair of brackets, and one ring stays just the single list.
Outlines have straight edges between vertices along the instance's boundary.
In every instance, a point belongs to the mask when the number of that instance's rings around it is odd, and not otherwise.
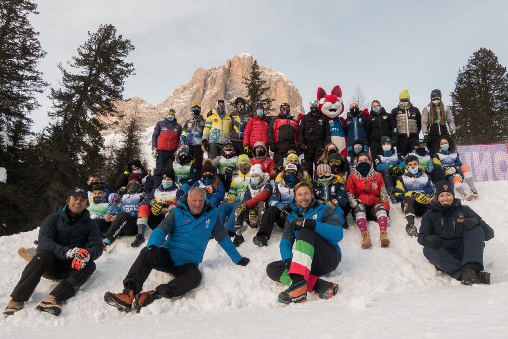
[{"label": "seated person in dark green beanie and teal-and-white top, wearing mask", "polygon": [[404,174],[405,158],[396,153],[393,148],[393,142],[390,137],[384,135],[381,137],[381,154],[374,159],[374,168],[383,175],[386,190],[393,203],[396,203],[394,196],[395,181]]}]

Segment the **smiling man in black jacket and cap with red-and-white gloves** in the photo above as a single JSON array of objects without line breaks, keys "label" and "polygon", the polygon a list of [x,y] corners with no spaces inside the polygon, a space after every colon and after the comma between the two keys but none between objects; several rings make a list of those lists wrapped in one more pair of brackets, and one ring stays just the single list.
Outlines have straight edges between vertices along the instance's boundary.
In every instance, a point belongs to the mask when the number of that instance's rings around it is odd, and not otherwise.
[{"label": "smiling man in black jacket and cap with red-and-white gloves", "polygon": [[42,222],[37,255],[23,269],[4,310],[5,315],[23,309],[44,277],[62,281],[36,308],[58,316],[60,302],[76,295],[90,278],[96,268],[94,260],[102,255],[103,247],[99,226],[90,219],[88,205],[87,192],[76,188],[65,206]]}]

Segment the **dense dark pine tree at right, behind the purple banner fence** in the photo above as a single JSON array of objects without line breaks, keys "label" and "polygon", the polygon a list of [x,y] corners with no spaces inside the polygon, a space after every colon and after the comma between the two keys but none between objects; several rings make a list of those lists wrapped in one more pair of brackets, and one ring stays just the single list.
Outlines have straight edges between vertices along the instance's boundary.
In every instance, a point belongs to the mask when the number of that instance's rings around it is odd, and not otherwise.
[{"label": "dense dark pine tree at right, behind the purple banner fence", "polygon": [[494,52],[480,48],[473,53],[451,96],[459,144],[508,141],[508,75]]}]

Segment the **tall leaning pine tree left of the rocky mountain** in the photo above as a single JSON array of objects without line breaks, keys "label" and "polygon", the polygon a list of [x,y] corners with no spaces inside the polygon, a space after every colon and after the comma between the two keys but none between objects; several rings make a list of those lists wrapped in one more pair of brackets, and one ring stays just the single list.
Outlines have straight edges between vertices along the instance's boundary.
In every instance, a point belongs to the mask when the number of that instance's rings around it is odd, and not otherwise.
[{"label": "tall leaning pine tree left of the rocky mountain", "polygon": [[35,166],[34,183],[45,204],[33,212],[33,226],[53,213],[71,188],[83,185],[90,172],[100,172],[105,160],[101,131],[112,124],[111,117],[122,117],[115,102],[122,100],[124,79],[134,73],[133,64],[124,60],[134,46],[116,36],[110,24],[88,36],[69,63],[77,72],[59,64],[61,88],[51,88],[54,122],[40,138],[42,160]]}]

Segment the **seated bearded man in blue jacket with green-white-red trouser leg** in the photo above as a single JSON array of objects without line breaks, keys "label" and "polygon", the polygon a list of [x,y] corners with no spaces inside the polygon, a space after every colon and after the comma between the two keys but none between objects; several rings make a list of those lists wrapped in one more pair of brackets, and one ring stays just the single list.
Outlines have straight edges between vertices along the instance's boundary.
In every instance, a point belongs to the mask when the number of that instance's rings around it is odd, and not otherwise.
[{"label": "seated bearded man in blue jacket with green-white-red trouser leg", "polygon": [[266,272],[273,281],[289,286],[279,294],[279,302],[305,301],[307,291],[329,299],[339,287],[319,277],[333,272],[341,260],[338,242],[343,229],[339,216],[313,198],[310,184],[300,182],[294,192],[279,245],[282,260],[268,264]]}]

